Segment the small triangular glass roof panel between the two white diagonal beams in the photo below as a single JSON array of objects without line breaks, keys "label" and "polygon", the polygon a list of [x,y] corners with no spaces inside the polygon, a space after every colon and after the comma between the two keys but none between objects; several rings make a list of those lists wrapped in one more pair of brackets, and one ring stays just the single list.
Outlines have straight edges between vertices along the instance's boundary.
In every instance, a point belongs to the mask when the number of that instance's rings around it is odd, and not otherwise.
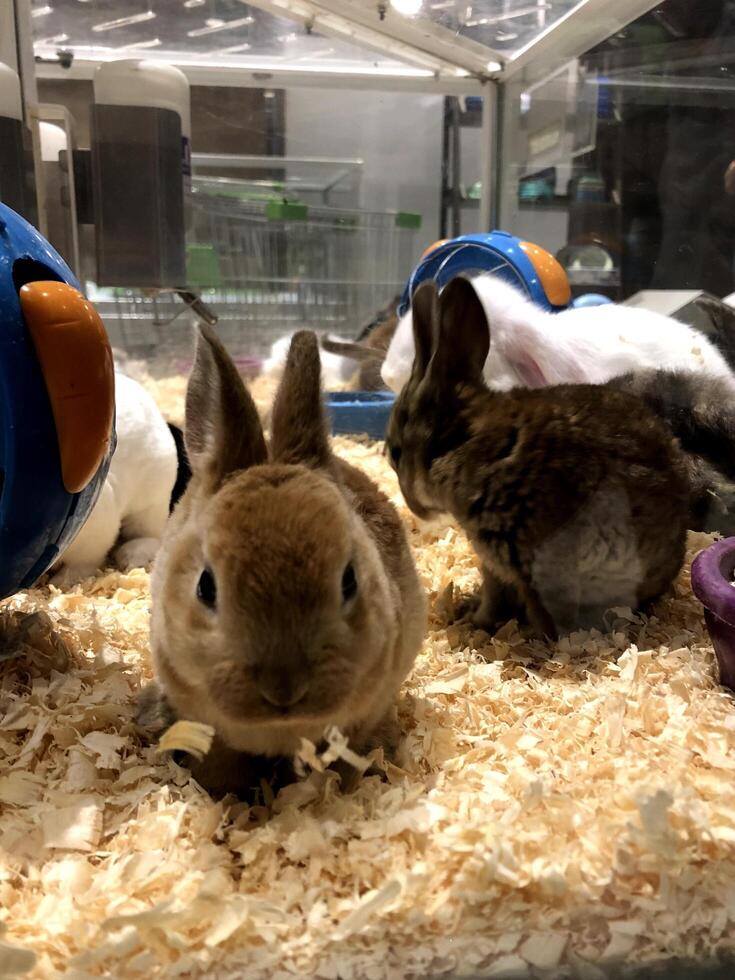
[{"label": "small triangular glass roof panel between the two white diagonal beams", "polygon": [[577,6],[578,0],[425,0],[437,24],[510,57]]}]

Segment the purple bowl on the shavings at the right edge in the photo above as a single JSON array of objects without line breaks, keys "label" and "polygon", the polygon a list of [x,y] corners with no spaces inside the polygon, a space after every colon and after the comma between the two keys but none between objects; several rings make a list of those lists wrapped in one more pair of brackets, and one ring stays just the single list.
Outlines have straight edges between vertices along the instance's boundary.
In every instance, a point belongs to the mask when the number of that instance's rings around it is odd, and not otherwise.
[{"label": "purple bowl on the shavings at the right edge", "polygon": [[692,562],[692,591],[704,606],[720,683],[735,691],[735,538],[725,538],[700,551]]}]

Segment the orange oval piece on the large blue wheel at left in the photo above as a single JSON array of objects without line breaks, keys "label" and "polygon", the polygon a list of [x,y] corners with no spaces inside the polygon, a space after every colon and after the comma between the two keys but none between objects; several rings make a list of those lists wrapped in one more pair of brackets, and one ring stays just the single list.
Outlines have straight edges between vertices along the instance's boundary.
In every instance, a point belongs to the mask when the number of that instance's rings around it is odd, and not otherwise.
[{"label": "orange oval piece on the large blue wheel at left", "polygon": [[105,458],[115,415],[115,371],[99,314],[63,282],[31,282],[20,305],[41,365],[69,493],[79,493]]}]

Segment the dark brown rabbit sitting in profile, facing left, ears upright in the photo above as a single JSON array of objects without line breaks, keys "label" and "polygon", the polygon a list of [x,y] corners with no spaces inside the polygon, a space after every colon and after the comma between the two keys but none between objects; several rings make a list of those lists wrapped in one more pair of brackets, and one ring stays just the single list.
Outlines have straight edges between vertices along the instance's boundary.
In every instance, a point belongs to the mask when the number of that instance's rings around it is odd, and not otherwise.
[{"label": "dark brown rabbit sitting in profile, facing left, ears upright", "polygon": [[681,568],[682,454],[634,395],[595,385],[494,392],[471,282],[413,299],[416,356],[388,426],[409,507],[450,512],[482,562],[474,619],[525,612],[549,637],[660,596]]}]

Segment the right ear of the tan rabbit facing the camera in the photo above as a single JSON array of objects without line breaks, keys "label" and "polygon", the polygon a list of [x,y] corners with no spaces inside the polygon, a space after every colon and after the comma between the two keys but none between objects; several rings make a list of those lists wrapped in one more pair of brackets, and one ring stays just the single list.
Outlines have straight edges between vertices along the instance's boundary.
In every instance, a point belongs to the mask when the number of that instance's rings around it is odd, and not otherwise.
[{"label": "right ear of the tan rabbit facing the camera", "polygon": [[271,415],[271,452],[279,463],[312,468],[331,460],[327,422],[322,405],[319,343],[311,330],[291,339],[286,367]]}]

